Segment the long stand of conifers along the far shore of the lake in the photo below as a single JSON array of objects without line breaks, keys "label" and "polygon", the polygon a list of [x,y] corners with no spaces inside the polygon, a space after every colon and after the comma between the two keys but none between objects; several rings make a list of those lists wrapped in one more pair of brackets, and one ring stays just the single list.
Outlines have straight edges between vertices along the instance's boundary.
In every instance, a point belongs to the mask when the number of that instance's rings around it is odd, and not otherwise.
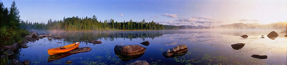
[{"label": "long stand of conifers along the far shore of the lake", "polygon": [[61,20],[48,20],[48,23],[28,22],[21,21],[21,28],[24,29],[65,29],[65,30],[163,30],[164,25],[155,23],[154,21],[146,22],[142,21],[122,21],[118,22],[114,19],[98,21],[97,17],[68,17]]}]

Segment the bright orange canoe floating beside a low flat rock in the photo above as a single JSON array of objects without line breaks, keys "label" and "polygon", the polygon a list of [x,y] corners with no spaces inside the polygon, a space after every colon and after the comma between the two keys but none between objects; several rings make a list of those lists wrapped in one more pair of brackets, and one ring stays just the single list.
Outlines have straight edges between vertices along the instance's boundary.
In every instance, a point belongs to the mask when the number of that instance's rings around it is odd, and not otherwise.
[{"label": "bright orange canoe floating beside a low flat rock", "polygon": [[52,48],[48,49],[48,54],[53,55],[53,54],[58,54],[58,53],[64,53],[64,52],[69,52],[70,50],[73,50],[79,46],[79,42],[63,46],[63,47],[58,47],[58,48]]}]

